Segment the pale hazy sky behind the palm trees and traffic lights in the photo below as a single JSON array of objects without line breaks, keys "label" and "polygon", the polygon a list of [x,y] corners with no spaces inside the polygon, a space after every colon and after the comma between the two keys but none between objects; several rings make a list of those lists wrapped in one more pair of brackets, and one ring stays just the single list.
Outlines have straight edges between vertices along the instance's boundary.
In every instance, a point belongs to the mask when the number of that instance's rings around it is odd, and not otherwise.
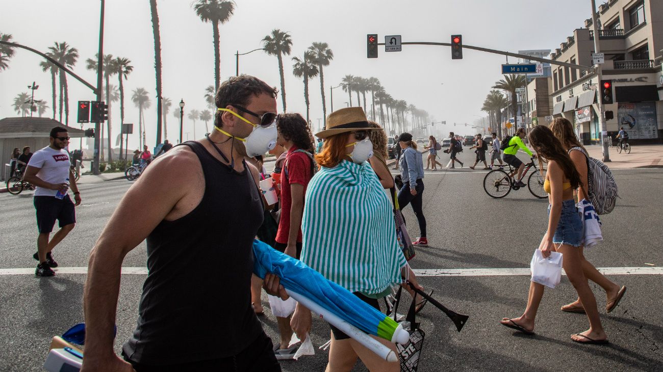
[{"label": "pale hazy sky behind the palm trees and traffic lights", "polygon": [[[158,0],[160,21],[163,96],[174,105],[165,115],[168,139],[176,142],[179,120],[172,114],[180,99],[186,103],[184,132],[194,138],[189,109],[206,109],[204,89],[214,84],[212,27],[202,23],[190,0]],[[80,58],[74,71],[95,85],[95,73],[85,69],[85,60],[97,52],[99,38],[98,0],[0,0],[0,32],[14,41],[42,52],[54,42],[66,41],[78,48]],[[221,80],[235,74],[235,51],[261,48],[261,39],[273,28],[287,31],[293,40],[292,56],[302,56],[312,42],[328,42],[334,53],[325,68],[328,114],[330,85],[338,85],[346,74],[375,76],[394,99],[404,99],[428,111],[436,121],[473,122],[484,116],[481,105],[491,85],[500,79],[505,57],[465,49],[463,60],[452,60],[448,47],[403,46],[402,52],[385,52],[366,58],[366,34],[401,34],[402,41],[449,42],[451,34],[462,34],[463,43],[517,52],[527,49],[559,48],[573,29],[590,18],[589,0],[420,0],[420,1],[304,1],[237,0],[235,14],[220,26]],[[125,81],[125,122],[138,125],[138,109],[131,91],[143,87],[156,95],[154,83],[154,40],[148,0],[107,0],[105,3],[104,54],[129,58],[133,73]],[[286,99],[289,112],[305,113],[302,80],[292,75],[291,56],[284,58]],[[256,75],[280,87],[276,57],[262,51],[239,57],[240,73]],[[41,58],[17,49],[9,68],[0,72],[0,118],[17,116],[13,97],[36,81],[35,99],[52,106],[50,73],[38,66]],[[516,62],[510,59],[510,62]],[[93,100],[93,93],[68,78],[70,125],[76,124],[76,101]],[[117,85],[117,76],[111,78]],[[367,97],[368,99],[368,97]],[[320,80],[310,82],[311,120],[314,128],[322,118]],[[347,93],[334,89],[334,108],[344,107]],[[356,96],[353,104],[357,105]],[[278,108],[281,109],[280,97]],[[179,107],[177,107],[179,110]],[[52,115],[48,109],[46,116]],[[114,133],[119,128],[119,104],[112,108]],[[156,101],[145,113],[147,143],[156,136]],[[211,123],[210,123],[211,126]],[[463,130],[456,127],[456,132]],[[468,127],[469,129],[469,127]],[[205,132],[196,123],[196,137]],[[470,133],[470,131],[467,131]],[[113,135],[115,137],[115,135]],[[186,134],[185,134],[186,140]],[[138,144],[137,134],[129,147]]]}]

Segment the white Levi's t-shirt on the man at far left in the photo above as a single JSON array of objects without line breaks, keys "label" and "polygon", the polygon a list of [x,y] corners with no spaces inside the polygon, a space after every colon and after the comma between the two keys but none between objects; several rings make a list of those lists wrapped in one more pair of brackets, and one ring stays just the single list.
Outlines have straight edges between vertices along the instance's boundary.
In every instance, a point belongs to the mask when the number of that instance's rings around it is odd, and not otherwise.
[{"label": "white Levi's t-shirt on the man at far left", "polygon": [[[69,153],[67,150],[53,150],[50,146],[46,146],[32,154],[30,167],[41,168],[37,172],[37,177],[48,183],[62,183],[69,178],[69,167],[72,165],[69,160]],[[54,197],[58,193],[57,190],[44,189],[44,187],[36,188],[34,196],[36,197]]]}]

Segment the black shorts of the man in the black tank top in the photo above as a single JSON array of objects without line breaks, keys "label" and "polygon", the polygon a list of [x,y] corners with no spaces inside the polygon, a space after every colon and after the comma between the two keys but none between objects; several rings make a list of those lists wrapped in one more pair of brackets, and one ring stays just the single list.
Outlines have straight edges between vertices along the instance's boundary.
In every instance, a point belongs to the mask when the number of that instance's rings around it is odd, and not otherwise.
[{"label": "black shorts of the man in the black tank top", "polygon": [[[202,326],[202,325],[201,325]],[[133,366],[136,372],[162,371],[245,371],[245,372],[276,372],[281,367],[274,355],[272,340],[262,332],[254,342],[237,355],[217,359],[192,361],[172,365],[143,365],[130,360],[122,352],[125,361]],[[176,349],[176,348],[175,348]]]}]

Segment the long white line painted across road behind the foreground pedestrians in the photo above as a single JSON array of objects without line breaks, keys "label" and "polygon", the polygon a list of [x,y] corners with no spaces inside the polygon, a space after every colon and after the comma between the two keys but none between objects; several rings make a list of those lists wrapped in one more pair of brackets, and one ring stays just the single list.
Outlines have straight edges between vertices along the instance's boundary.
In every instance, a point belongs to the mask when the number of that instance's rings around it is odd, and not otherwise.
[{"label": "long white line painted across road behind the foreground pedestrians", "polygon": [[[605,275],[663,275],[663,267],[599,267]],[[58,267],[59,274],[86,274],[88,267]],[[530,275],[527,267],[495,268],[495,269],[413,269],[422,277],[495,277]],[[125,275],[147,275],[147,267],[122,267]],[[0,269],[0,275],[34,275],[34,268]],[[564,271],[562,271],[562,275]]]}]

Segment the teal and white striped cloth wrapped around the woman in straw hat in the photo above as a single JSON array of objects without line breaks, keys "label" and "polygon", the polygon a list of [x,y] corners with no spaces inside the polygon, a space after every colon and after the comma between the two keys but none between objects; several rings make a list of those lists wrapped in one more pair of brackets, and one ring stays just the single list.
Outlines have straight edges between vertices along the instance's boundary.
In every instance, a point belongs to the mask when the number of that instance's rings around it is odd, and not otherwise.
[{"label": "teal and white striped cloth wrapped around the woman in straw hat", "polygon": [[306,189],[302,262],[351,292],[383,297],[407,264],[392,205],[368,162],[322,167]]}]

